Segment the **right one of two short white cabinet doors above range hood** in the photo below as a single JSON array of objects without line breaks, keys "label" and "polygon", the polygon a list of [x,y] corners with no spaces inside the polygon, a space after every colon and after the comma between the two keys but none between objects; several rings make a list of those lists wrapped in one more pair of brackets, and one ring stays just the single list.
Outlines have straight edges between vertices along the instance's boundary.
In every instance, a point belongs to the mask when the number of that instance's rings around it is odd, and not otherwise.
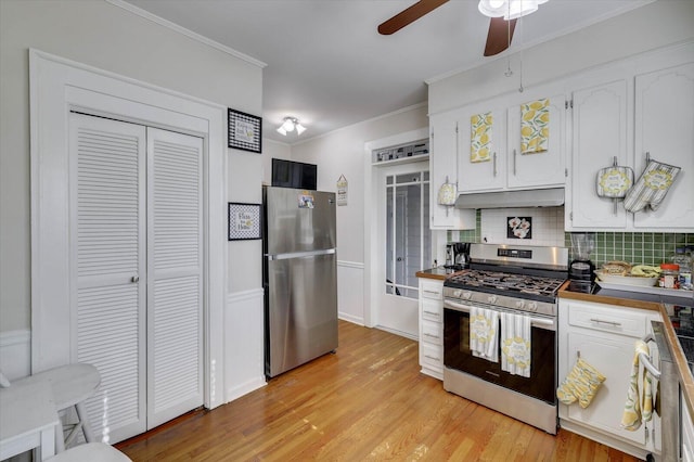
[{"label": "right one of two short white cabinet doors above range hood", "polygon": [[563,94],[549,99],[548,149],[537,153],[523,154],[520,150],[523,106],[509,108],[509,188],[563,187],[566,182],[565,100]]}]

